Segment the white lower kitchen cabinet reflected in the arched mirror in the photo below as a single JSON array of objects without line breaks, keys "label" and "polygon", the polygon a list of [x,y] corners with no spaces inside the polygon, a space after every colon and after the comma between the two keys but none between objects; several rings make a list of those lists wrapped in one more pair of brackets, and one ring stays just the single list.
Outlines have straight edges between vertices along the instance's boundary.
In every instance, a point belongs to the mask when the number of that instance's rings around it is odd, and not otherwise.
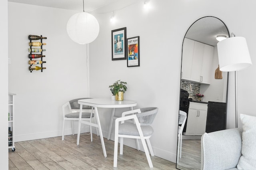
[{"label": "white lower kitchen cabinet reflected in the arched mirror", "polygon": [[206,129],[207,103],[190,102],[184,135],[202,135]]}]

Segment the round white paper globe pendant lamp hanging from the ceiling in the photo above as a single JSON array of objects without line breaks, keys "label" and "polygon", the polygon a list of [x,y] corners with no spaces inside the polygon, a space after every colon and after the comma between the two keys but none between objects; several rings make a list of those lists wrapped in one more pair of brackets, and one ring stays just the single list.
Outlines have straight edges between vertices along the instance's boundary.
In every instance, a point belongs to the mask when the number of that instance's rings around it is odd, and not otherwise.
[{"label": "round white paper globe pendant lamp hanging from the ceiling", "polygon": [[68,36],[76,43],[93,42],[100,31],[97,19],[86,12],[79,12],[70,17],[67,23]]}]

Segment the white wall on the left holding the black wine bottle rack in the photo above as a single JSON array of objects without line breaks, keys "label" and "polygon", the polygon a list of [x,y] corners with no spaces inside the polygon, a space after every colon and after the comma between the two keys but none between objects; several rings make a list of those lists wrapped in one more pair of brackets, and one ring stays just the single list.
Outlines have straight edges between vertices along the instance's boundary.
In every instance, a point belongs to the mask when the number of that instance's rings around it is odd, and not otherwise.
[{"label": "white wall on the left holding the black wine bottle rack", "polygon": [[[73,42],[66,33],[66,23],[77,11],[14,2],[8,9],[9,92],[17,94],[15,140],[60,136],[62,105],[88,97],[86,45]],[[43,72],[28,70],[30,34],[47,37]],[[71,125],[66,128],[71,134]]]}]

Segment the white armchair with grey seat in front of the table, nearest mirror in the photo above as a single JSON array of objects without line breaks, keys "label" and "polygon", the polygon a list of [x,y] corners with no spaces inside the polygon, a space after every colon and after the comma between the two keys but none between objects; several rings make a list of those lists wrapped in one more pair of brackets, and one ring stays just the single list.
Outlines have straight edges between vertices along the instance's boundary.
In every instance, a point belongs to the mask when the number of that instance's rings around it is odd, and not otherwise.
[{"label": "white armchair with grey seat in front of the table, nearest mirror", "polygon": [[[115,123],[115,142],[114,142],[114,167],[117,167],[118,157],[118,137],[120,137],[120,155],[123,154],[124,138],[140,139],[148,165],[153,168],[153,164],[148,152],[151,156],[154,156],[152,146],[149,138],[153,134],[154,130],[150,126],[156,117],[158,112],[157,107],[147,107],[142,109],[136,109],[132,111],[126,111],[122,113],[122,117],[116,119]],[[127,120],[132,120],[134,123],[130,123]],[[121,123],[120,123],[121,122]],[[148,147],[147,147],[147,144]]]}]

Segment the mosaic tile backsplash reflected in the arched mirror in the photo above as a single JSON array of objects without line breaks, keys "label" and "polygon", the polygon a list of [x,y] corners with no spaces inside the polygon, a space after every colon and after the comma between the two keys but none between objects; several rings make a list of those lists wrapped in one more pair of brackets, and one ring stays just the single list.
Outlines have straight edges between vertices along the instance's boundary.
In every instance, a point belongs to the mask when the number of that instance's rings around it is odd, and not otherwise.
[{"label": "mosaic tile backsplash reflected in the arched mirror", "polygon": [[[191,88],[192,88],[192,91],[190,91],[190,85],[191,85]],[[185,87],[185,89],[184,89]],[[191,82],[188,82],[188,81],[184,81],[184,80],[181,80],[180,82],[180,89],[184,89],[186,91],[188,91],[188,98],[192,98],[192,100],[194,101],[198,101],[198,97],[196,97],[196,94],[199,94],[200,93],[200,87],[201,85],[199,83],[191,83]]]}]

